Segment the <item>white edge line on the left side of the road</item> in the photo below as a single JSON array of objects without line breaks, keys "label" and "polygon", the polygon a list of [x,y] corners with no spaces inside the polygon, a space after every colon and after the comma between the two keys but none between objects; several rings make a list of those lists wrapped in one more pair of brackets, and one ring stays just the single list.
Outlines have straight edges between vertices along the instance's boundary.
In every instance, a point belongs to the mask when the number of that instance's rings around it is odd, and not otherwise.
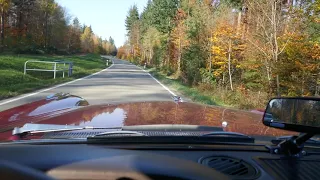
[{"label": "white edge line on the left side of the road", "polygon": [[46,91],[50,91],[50,90],[52,90],[52,89],[56,89],[56,88],[61,87],[61,86],[65,86],[65,85],[68,85],[68,84],[71,84],[71,83],[75,83],[75,82],[77,82],[77,81],[81,81],[81,80],[90,78],[90,77],[92,77],[92,76],[94,76],[94,75],[97,75],[97,74],[99,74],[99,73],[101,73],[101,72],[103,72],[103,71],[108,70],[108,69],[111,68],[113,65],[114,65],[114,64],[112,63],[112,65],[109,66],[108,68],[103,69],[103,70],[101,70],[101,71],[99,71],[99,72],[96,72],[96,73],[94,73],[94,74],[91,74],[91,75],[89,75],[89,76],[80,78],[80,79],[76,79],[76,80],[73,80],[73,81],[70,81],[70,82],[66,82],[66,83],[63,83],[63,84],[59,84],[59,85],[53,86],[53,87],[51,87],[51,88],[42,89],[42,90],[36,91],[36,92],[34,92],[34,93],[25,94],[25,95],[22,95],[22,96],[20,96],[20,97],[17,97],[17,98],[14,98],[14,99],[10,99],[10,100],[4,101],[4,102],[0,103],[0,106],[1,106],[1,105],[5,105],[5,104],[8,104],[8,103],[11,103],[11,102],[14,102],[14,101],[18,101],[18,100],[23,99],[23,98],[26,98],[26,97],[34,96],[34,95],[39,94],[39,93],[43,93],[43,92],[46,92]]}]

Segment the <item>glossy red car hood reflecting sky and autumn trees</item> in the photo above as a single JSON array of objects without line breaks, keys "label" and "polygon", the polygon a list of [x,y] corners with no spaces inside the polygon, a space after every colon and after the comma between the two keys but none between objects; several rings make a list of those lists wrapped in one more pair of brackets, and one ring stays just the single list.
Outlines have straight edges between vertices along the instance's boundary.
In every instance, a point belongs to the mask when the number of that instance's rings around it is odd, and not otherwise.
[{"label": "glossy red car hood reflecting sky and autumn trees", "polygon": [[195,103],[139,102],[88,105],[77,96],[41,100],[0,112],[0,140],[8,140],[14,127],[25,123],[119,127],[151,124],[222,126],[247,135],[282,136],[292,132],[262,124],[262,113]]}]

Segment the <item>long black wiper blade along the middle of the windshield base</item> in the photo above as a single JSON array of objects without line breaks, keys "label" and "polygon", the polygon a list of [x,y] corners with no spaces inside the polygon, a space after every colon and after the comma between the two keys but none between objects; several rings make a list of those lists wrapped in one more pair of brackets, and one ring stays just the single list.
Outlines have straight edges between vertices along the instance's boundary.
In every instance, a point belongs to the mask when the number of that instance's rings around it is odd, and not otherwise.
[{"label": "long black wiper blade along the middle of the windshield base", "polygon": [[[127,126],[128,127],[128,126]],[[147,128],[148,127],[148,128]],[[160,127],[166,127],[165,131],[163,131]],[[224,131],[216,131],[209,132],[202,135],[190,135],[190,136],[180,136],[180,135],[170,135],[172,132],[182,132],[177,131],[176,127],[172,127],[171,130],[168,131],[169,125],[157,125],[152,126],[148,125],[146,127],[138,126],[135,129],[135,126],[130,127],[132,131],[115,131],[115,132],[104,132],[95,136],[88,137],[88,141],[90,142],[128,142],[128,143],[254,143],[254,138],[245,134],[235,133],[235,132],[224,132]],[[154,130],[159,131],[162,129],[161,135],[150,135],[148,133]],[[189,129],[189,128],[188,128]],[[190,128],[194,130],[194,128]],[[138,132],[138,131],[139,132]],[[142,131],[142,132],[141,132]],[[145,133],[143,133],[145,132]],[[185,133],[192,133],[192,131],[184,131]],[[203,132],[203,131],[202,131]],[[201,133],[202,133],[201,132]],[[169,134],[169,135],[168,135]],[[178,133],[179,134],[179,133]],[[112,140],[110,140],[113,136]],[[124,135],[124,136],[123,136]]]}]

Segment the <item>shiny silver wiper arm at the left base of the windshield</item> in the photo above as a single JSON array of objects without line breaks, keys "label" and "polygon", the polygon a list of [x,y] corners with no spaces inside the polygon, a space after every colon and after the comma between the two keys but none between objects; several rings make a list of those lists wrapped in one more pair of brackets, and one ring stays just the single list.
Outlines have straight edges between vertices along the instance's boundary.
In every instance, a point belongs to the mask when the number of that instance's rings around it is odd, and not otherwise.
[{"label": "shiny silver wiper arm at the left base of the windshield", "polygon": [[47,133],[47,132],[64,132],[85,129],[121,129],[122,127],[92,127],[92,126],[72,126],[72,125],[55,125],[55,124],[31,124],[27,123],[22,127],[15,127],[12,135],[24,137],[31,134]]}]

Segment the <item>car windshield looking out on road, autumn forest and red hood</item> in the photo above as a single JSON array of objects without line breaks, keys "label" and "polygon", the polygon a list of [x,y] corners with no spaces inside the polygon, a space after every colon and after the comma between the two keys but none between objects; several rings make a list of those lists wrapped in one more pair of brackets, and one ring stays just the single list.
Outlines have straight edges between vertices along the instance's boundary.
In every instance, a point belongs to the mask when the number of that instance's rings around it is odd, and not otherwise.
[{"label": "car windshield looking out on road, autumn forest and red hood", "polygon": [[263,112],[319,96],[319,32],[317,0],[0,0],[0,137],[25,123],[294,135]]}]

